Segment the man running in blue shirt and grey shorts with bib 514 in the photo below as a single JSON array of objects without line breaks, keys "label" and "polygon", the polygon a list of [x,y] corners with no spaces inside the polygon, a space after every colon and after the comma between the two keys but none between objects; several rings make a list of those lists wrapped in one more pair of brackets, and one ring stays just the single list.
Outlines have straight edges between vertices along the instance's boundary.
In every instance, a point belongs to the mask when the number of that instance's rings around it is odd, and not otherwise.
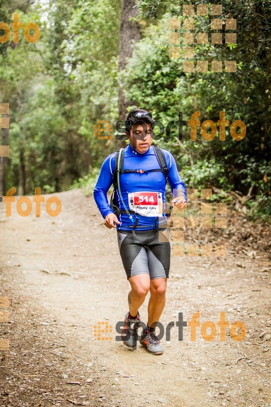
[{"label": "man running in blue shirt and grey shorts with bib 514", "polygon": [[[135,346],[134,324],[140,322],[139,308],[150,292],[148,321],[140,343],[149,353],[164,352],[155,328],[166,301],[170,267],[169,239],[165,208],[166,182],[174,198],[172,206],[186,208],[186,188],[170,152],[152,146],[152,114],[142,109],[131,111],[125,119],[129,145],[104,161],[94,189],[94,198],[109,229],[117,229],[119,252],[127,279],[129,312],[125,316],[122,338]],[[114,199],[108,204],[107,192],[114,185]],[[164,227],[163,227],[164,225]]]}]

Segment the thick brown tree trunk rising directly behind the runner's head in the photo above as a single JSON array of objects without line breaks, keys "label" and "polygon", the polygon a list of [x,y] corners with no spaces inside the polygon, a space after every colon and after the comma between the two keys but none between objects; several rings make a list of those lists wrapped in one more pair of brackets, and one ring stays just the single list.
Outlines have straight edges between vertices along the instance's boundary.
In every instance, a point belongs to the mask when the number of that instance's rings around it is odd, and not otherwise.
[{"label": "thick brown tree trunk rising directly behind the runner's head", "polygon": [[[131,17],[135,18],[138,15],[138,7],[136,0],[122,0],[121,23],[119,24],[119,62],[118,71],[121,72],[132,55],[133,44],[140,40],[140,27],[138,22],[131,21]],[[126,100],[122,85],[119,85],[118,90],[118,118],[124,120],[127,115],[126,107],[129,102]]]}]

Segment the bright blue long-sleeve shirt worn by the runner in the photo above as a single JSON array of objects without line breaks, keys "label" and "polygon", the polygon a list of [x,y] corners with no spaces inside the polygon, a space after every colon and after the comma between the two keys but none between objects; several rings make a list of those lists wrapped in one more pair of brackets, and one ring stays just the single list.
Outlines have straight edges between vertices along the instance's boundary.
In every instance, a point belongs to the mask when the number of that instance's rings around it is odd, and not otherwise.
[{"label": "bright blue long-sleeve shirt worn by the runner", "polygon": [[[179,176],[172,154],[167,150],[163,150],[163,152],[168,167],[168,183],[173,196],[178,195],[179,191],[176,190],[182,190],[184,198],[187,199],[185,184]],[[114,153],[105,159],[94,189],[94,199],[104,218],[109,213],[113,213],[108,204],[107,192],[113,183],[114,161]],[[138,153],[130,144],[125,149],[123,169],[147,171],[155,168],[160,168],[160,165],[152,146],[144,154]],[[135,230],[155,228],[157,217],[165,216],[161,213],[161,202],[166,201],[166,181],[163,172],[122,173],[120,186],[126,208],[136,211],[137,214],[133,215],[132,219],[127,214],[119,215],[118,220],[121,224],[117,225],[117,229],[131,230],[131,225],[135,223],[136,218],[138,218],[138,223]],[[116,191],[116,201],[119,208],[125,210],[118,191]]]}]

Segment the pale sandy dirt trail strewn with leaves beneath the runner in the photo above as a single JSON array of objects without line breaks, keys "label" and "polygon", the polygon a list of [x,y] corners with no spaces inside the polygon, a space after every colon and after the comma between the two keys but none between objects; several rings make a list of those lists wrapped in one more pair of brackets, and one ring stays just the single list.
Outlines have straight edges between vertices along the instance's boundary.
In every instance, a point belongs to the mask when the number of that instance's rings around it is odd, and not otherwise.
[{"label": "pale sandy dirt trail strewn with leaves beneath the runner", "polygon": [[[189,321],[200,311],[201,326],[217,325],[224,311],[230,325],[236,320],[246,325],[244,340],[234,341],[227,328],[221,342],[217,327],[213,341],[197,328],[192,342],[186,327],[178,341],[174,326],[170,343],[162,339],[163,355],[149,355],[140,345],[133,352],[114,340],[129,290],[115,230],[103,226],[93,198],[80,190],[54,195],[63,205],[56,218],[45,210],[40,218],[34,213],[22,218],[14,204],[6,218],[0,203],[0,295],[11,302],[10,322],[0,331],[10,339],[9,351],[0,352],[0,406],[270,405],[263,255],[172,257],[162,324],[176,323],[179,312]],[[94,336],[99,321],[112,325],[113,340]]]}]

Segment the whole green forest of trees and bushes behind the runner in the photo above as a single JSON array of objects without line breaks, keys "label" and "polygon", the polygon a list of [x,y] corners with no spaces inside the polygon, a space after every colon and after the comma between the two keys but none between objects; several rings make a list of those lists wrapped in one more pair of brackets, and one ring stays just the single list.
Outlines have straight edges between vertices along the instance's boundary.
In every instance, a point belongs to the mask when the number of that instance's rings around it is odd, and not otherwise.
[{"label": "whole green forest of trees and bushes behind the runner", "polygon": [[[183,20],[183,4],[223,6],[237,20],[237,44],[195,44],[195,60],[237,61],[237,71],[183,72],[183,54],[169,57],[169,18]],[[230,124],[242,120],[245,138],[206,141],[184,127],[154,143],[171,151],[187,188],[212,188],[213,199],[235,202],[250,218],[268,221],[270,209],[270,23],[271,2],[219,0],[1,0],[0,21],[18,13],[36,22],[40,38],[0,44],[0,103],[10,104],[10,128],[2,142],[0,195],[65,191],[91,193],[105,157],[125,145],[94,135],[97,121],[113,125],[134,107],[166,125],[178,111],[189,120]],[[195,19],[195,34],[210,32],[210,15]],[[11,31],[12,33],[12,31]],[[180,25],[180,37],[183,29]],[[0,31],[4,35],[4,31]],[[223,34],[224,35],[224,34]],[[182,45],[182,44],[181,44]],[[113,135],[111,133],[110,135]],[[1,141],[1,139],[0,139]]]}]

